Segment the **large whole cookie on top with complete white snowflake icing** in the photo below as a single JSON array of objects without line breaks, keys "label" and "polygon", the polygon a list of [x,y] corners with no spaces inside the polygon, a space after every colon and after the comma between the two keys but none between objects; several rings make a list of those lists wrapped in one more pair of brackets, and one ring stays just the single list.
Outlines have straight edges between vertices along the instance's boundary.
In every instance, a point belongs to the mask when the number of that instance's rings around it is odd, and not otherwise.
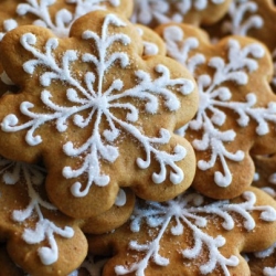
[{"label": "large whole cookie on top with complete white snowflake icing", "polygon": [[195,82],[169,57],[145,57],[127,20],[95,11],[75,21],[67,39],[19,26],[0,51],[20,87],[0,99],[1,155],[42,158],[47,194],[62,212],[103,213],[119,187],[164,201],[191,184],[194,152],[173,130],[197,112]]}]

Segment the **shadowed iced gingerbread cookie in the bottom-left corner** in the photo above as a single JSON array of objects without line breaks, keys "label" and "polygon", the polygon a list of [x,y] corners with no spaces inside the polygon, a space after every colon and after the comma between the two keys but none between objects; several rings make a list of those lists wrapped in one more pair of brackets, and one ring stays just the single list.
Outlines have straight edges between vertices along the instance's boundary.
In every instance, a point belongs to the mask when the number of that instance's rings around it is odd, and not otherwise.
[{"label": "shadowed iced gingerbread cookie in the bottom-left corner", "polygon": [[[87,250],[83,222],[66,217],[44,199],[41,168],[4,158],[0,168],[0,236],[13,262],[32,275],[75,269]],[[76,255],[64,258],[68,250]]]}]

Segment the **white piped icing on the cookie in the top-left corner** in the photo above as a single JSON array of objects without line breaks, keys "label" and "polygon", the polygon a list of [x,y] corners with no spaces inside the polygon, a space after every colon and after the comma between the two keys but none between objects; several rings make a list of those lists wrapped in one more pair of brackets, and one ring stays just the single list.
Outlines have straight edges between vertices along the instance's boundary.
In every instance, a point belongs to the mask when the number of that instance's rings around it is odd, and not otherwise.
[{"label": "white piped icing on the cookie in the top-left corner", "polygon": [[[34,15],[38,19],[32,22],[33,24],[52,30],[56,36],[66,38],[68,36],[72,23],[79,17],[98,9],[106,9],[107,3],[112,7],[118,7],[120,4],[120,0],[66,0],[64,1],[65,8],[57,10],[53,17],[50,9],[59,2],[61,1],[25,0],[17,6],[15,13],[19,18],[28,18],[29,15],[32,18]],[[70,9],[66,9],[71,8],[70,6],[74,7],[73,12],[71,12]],[[0,33],[0,40],[6,32],[13,30],[19,24],[14,19],[4,20],[2,26],[3,32]]]}]

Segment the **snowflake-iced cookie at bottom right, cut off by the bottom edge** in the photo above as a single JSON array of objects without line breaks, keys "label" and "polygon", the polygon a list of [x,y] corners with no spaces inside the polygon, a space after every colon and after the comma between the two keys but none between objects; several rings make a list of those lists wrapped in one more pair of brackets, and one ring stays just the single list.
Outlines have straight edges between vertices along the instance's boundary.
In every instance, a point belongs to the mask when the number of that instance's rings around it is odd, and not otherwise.
[{"label": "snowflake-iced cookie at bottom right, cut off by the bottom edge", "polygon": [[256,188],[233,201],[184,193],[164,203],[138,201],[128,224],[88,237],[89,251],[115,255],[104,276],[250,275],[240,253],[272,244],[275,220],[275,201]]}]

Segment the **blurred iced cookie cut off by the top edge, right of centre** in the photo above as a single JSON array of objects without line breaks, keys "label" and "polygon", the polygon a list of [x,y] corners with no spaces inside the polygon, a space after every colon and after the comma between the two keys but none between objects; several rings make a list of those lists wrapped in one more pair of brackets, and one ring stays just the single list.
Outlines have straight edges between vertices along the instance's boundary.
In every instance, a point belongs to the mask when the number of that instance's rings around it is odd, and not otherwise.
[{"label": "blurred iced cookie cut off by the top edge, right of centre", "polygon": [[135,0],[131,21],[156,26],[168,22],[213,24],[227,11],[231,0]]}]

